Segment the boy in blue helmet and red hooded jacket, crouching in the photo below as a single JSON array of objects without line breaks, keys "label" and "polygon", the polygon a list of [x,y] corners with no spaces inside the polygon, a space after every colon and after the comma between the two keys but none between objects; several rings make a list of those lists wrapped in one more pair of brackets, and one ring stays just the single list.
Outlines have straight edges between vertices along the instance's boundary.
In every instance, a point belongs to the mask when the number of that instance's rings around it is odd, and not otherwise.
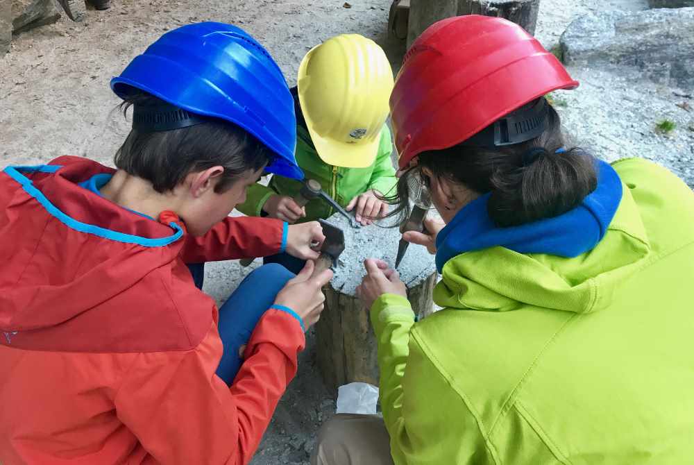
[{"label": "boy in blue helmet and red hooded jacket, crouching", "polygon": [[[117,169],[0,174],[0,460],[246,464],[323,310],[319,223],[230,218],[263,171],[302,178],[289,89],[253,37],[183,26],[114,78]],[[188,264],[287,252],[217,310]]]}]

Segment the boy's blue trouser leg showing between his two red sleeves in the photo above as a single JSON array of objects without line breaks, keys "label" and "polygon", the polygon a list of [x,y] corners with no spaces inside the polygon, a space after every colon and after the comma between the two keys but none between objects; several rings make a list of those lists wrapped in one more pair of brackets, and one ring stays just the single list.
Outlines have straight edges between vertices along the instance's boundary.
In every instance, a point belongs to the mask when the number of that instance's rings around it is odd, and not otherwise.
[{"label": "boy's blue trouser leg showing between his two red sleeves", "polygon": [[294,273],[279,264],[263,265],[248,273],[219,309],[219,337],[224,352],[217,367],[217,376],[226,384],[232,383],[243,363],[239,348],[251,339],[260,317],[291,278],[294,278]]}]

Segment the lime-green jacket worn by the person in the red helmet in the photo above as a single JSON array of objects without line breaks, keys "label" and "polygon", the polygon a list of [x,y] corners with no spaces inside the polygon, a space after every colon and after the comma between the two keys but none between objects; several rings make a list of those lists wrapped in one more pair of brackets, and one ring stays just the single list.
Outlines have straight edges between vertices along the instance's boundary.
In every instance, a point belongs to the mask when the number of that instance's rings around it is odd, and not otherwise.
[{"label": "lime-green jacket worn by the person in the red helmet", "polygon": [[589,253],[458,255],[418,323],[403,297],[374,303],[396,464],[694,460],[694,194],[613,166],[623,198]]}]

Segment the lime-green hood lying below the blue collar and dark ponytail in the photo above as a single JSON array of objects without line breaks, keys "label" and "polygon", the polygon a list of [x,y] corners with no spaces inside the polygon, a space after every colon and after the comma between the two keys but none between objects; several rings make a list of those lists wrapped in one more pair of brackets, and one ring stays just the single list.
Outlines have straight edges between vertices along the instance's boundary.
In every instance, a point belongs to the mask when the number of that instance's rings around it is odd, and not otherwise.
[{"label": "lime-green hood lying below the blue collar and dark ponytail", "polygon": [[462,251],[443,264],[434,301],[442,307],[486,311],[532,305],[588,313],[608,307],[620,282],[643,266],[650,254],[638,206],[625,185],[620,183],[620,189],[609,226],[589,250],[572,257],[514,251],[497,243],[484,250]]}]

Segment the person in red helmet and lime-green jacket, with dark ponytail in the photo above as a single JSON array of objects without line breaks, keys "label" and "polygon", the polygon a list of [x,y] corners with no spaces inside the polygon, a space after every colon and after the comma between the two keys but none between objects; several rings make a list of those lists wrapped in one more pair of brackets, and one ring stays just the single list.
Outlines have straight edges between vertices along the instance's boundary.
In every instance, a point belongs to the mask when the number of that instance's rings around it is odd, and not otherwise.
[{"label": "person in red helmet and lime-green jacket, with dark ponytail", "polygon": [[523,28],[468,15],[407,52],[390,105],[396,211],[413,178],[442,222],[415,321],[397,271],[357,292],[378,416],[337,415],[312,464],[665,464],[694,456],[694,194],[643,159],[569,145],[545,99],[578,83]]}]

